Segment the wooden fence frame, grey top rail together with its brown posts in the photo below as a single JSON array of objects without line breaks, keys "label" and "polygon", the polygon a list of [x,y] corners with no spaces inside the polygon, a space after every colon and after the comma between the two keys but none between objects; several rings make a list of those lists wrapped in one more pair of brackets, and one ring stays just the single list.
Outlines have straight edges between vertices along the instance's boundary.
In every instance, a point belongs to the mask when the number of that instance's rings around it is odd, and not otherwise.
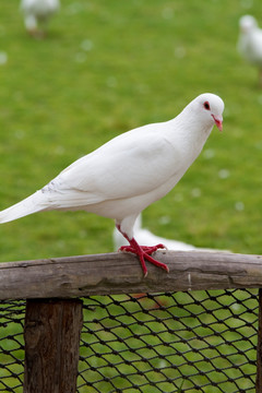
[{"label": "wooden fence frame, grey top rail together with its brown posts", "polygon": [[[82,327],[79,297],[198,289],[262,288],[262,255],[158,251],[170,272],[128,253],[0,263],[0,300],[27,299],[24,393],[74,393]],[[255,392],[262,392],[262,289]]]}]

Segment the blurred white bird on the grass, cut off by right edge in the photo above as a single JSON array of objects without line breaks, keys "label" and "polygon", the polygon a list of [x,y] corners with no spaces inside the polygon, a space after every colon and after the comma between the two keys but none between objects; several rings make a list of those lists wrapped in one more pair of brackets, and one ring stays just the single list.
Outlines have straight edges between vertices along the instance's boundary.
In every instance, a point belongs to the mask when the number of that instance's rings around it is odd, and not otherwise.
[{"label": "blurred white bird on the grass, cut off by right edge", "polygon": [[259,68],[259,84],[262,86],[262,29],[251,15],[239,20],[238,51],[250,64]]}]

